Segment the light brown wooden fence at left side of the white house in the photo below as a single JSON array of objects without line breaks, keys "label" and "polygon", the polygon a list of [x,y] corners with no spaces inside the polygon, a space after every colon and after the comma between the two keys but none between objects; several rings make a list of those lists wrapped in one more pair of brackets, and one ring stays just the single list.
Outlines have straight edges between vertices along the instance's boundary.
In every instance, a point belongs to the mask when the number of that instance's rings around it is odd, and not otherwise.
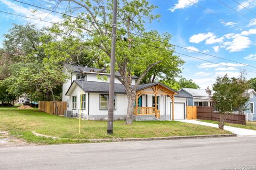
[{"label": "light brown wooden fence at left side of the white house", "polygon": [[[58,115],[64,115],[64,111],[67,111],[67,102],[66,101],[56,101],[56,105],[58,106]],[[55,105],[53,101],[39,101],[38,109],[40,111],[57,115],[55,113]]]}]

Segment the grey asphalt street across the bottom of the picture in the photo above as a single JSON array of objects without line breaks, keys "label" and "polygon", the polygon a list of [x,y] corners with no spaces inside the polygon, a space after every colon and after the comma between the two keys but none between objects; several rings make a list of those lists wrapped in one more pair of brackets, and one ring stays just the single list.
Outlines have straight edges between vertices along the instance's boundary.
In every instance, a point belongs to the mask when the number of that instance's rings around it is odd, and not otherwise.
[{"label": "grey asphalt street across the bottom of the picture", "polygon": [[256,169],[255,136],[0,148],[1,170],[242,169],[245,166]]}]

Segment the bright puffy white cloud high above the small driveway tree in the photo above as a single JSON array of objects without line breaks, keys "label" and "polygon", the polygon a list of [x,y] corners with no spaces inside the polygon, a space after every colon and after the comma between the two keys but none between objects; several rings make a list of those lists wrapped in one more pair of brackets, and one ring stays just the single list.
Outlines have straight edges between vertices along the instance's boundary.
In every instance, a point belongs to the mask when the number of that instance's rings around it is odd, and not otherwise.
[{"label": "bright puffy white cloud high above the small driveway tree", "polygon": [[248,37],[236,35],[232,41],[225,42],[223,45],[229,52],[239,52],[250,47],[251,40]]}]

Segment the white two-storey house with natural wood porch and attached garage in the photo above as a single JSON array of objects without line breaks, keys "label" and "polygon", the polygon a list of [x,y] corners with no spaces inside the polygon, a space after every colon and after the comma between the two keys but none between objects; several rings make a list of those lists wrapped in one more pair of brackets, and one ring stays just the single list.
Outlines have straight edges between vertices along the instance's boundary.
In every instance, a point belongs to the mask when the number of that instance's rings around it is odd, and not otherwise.
[{"label": "white two-storey house with natural wood porch and attached garage", "polygon": [[[68,111],[73,111],[73,115],[78,115],[82,107],[83,118],[107,120],[109,74],[99,73],[100,69],[81,66],[65,65],[65,68],[70,79],[63,84],[62,100],[67,101]],[[99,75],[104,75],[107,79],[105,81],[99,79]],[[116,73],[116,76],[120,74]],[[132,85],[137,79],[136,76],[132,77]],[[80,105],[81,94],[82,106]],[[159,82],[139,85],[137,102],[134,104],[134,120],[184,119],[186,97],[175,95],[178,95],[177,91]],[[127,104],[125,87],[115,79],[114,120],[125,120]]]}]

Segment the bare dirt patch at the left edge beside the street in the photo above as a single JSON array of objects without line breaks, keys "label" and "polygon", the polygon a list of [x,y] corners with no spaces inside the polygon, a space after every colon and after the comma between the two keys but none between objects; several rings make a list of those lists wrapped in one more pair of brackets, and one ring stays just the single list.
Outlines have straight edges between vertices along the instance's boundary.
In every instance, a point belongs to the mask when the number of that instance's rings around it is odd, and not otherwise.
[{"label": "bare dirt patch at the left edge beside the street", "polygon": [[17,147],[30,145],[23,139],[18,139],[10,135],[7,131],[0,131],[0,148]]}]

